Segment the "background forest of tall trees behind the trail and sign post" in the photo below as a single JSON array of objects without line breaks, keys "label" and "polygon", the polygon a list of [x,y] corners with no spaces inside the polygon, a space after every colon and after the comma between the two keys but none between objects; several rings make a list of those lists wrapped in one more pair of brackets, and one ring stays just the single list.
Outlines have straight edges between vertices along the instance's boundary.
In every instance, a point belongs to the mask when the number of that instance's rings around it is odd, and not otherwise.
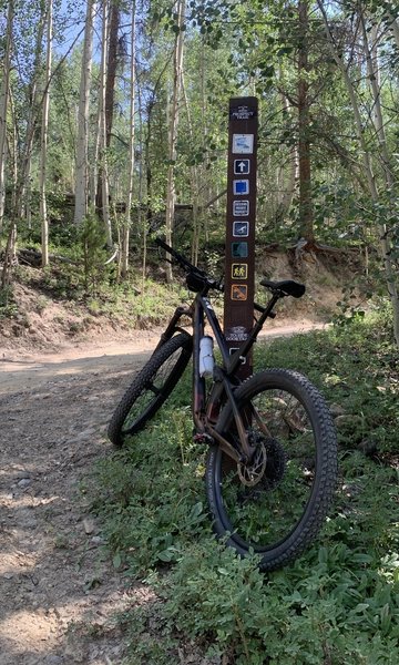
[{"label": "background forest of tall trees behind the trail and sign post", "polygon": [[124,280],[154,219],[194,262],[223,243],[228,100],[255,95],[257,243],[358,250],[399,344],[396,2],[13,0],[0,20],[2,301],[19,249]]}]

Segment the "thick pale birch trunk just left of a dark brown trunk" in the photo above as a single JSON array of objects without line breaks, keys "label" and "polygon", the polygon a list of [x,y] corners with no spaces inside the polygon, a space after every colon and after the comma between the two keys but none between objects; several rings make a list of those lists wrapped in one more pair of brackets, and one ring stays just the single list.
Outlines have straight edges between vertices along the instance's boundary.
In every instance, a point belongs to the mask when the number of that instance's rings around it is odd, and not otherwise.
[{"label": "thick pale birch trunk just left of a dark brown trunk", "polygon": [[89,203],[89,111],[95,0],[88,0],[78,111],[74,223],[81,224]]}]

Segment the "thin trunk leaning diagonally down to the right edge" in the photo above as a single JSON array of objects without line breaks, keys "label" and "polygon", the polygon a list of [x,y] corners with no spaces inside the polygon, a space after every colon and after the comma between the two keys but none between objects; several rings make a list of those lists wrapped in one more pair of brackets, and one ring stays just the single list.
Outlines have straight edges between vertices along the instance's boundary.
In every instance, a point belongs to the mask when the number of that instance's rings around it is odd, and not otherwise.
[{"label": "thin trunk leaning diagonally down to the right edge", "polygon": [[[327,12],[324,7],[323,0],[317,0],[317,4],[318,4],[320,12],[323,14],[323,18],[324,18],[325,30],[326,30],[326,34],[327,34],[327,42],[328,42],[329,50],[342,74],[342,79],[346,84],[348,96],[349,96],[349,100],[350,100],[350,103],[352,106],[356,133],[357,133],[357,139],[358,139],[359,145],[360,145],[361,160],[362,160],[364,171],[365,171],[365,174],[367,177],[367,183],[369,186],[370,196],[375,203],[379,203],[379,200],[380,200],[379,192],[378,192],[376,177],[375,177],[375,173],[374,173],[374,168],[372,168],[370,150],[365,140],[365,129],[364,129],[364,123],[362,123],[362,119],[361,119],[361,114],[360,114],[359,102],[358,102],[357,95],[356,95],[356,90],[355,90],[351,79],[349,76],[349,72],[344,62],[342,55],[338,52],[338,50],[336,48],[334,37],[332,37],[330,28],[329,28],[328,17],[327,17]],[[383,123],[382,123],[382,129],[383,129]],[[378,150],[378,149],[376,147],[376,150]],[[391,260],[391,246],[390,246],[389,235],[387,233],[386,225],[378,223],[377,228],[378,228],[378,234],[380,237],[380,254],[381,254],[381,258],[383,262],[385,277],[387,280],[388,294],[389,294],[391,306],[392,306],[393,335],[395,335],[396,344],[399,347],[399,294],[398,294],[398,286],[397,286],[397,282],[396,282],[395,266]]]}]

